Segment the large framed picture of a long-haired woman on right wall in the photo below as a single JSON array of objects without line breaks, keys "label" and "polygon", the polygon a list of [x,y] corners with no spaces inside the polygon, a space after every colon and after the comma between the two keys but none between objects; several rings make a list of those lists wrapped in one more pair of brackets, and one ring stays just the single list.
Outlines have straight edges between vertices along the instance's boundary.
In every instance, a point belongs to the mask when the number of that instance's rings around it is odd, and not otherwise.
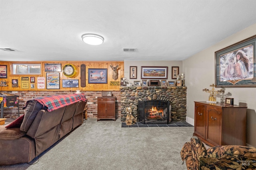
[{"label": "large framed picture of a long-haired woman on right wall", "polygon": [[215,52],[216,87],[256,87],[256,35]]}]

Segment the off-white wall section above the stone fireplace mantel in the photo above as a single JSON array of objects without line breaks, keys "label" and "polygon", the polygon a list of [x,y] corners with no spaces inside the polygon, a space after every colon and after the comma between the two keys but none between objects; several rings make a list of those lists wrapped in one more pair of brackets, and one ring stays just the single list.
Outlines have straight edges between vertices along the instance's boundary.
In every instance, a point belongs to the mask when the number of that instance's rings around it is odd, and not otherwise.
[{"label": "off-white wall section above the stone fireplace mantel", "polygon": [[[130,66],[137,66],[137,79],[130,79]],[[142,83],[141,66],[168,66],[167,82],[176,81],[175,79],[172,79],[172,66],[178,66],[179,73],[182,73],[183,70],[182,61],[124,61],[124,77],[128,78],[131,83],[134,81],[140,81]]]}]

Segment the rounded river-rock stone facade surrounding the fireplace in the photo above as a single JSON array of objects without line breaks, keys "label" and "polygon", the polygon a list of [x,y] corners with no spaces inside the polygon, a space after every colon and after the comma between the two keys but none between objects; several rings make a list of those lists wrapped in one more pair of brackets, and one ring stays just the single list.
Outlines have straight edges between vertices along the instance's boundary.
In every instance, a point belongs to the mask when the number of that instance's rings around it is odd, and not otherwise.
[{"label": "rounded river-rock stone facade surrounding the fireplace", "polygon": [[132,108],[132,115],[138,119],[138,101],[163,100],[170,101],[172,122],[186,121],[187,87],[184,86],[120,86],[121,121],[126,120],[125,109]]}]

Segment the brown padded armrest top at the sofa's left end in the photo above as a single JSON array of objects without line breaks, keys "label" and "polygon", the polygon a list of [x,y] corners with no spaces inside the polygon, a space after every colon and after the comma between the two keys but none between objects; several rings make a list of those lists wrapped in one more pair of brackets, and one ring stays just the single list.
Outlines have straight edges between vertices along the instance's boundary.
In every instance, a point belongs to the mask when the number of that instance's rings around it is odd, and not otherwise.
[{"label": "brown padded armrest top at the sofa's left end", "polygon": [[15,140],[25,136],[26,133],[20,131],[20,128],[14,127],[7,129],[4,126],[0,126],[0,139],[1,140]]}]

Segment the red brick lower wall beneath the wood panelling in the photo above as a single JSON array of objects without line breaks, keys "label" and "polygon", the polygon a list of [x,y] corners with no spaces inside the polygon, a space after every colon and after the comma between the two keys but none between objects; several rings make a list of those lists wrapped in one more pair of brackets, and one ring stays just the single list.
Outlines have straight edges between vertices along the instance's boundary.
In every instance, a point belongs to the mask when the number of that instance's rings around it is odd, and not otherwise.
[{"label": "red brick lower wall beneath the wood panelling", "polygon": [[[101,91],[80,91],[86,95],[88,100],[88,118],[97,118],[97,97],[101,96]],[[62,95],[62,94],[74,94],[75,92],[67,92],[67,91],[18,91],[18,92],[8,92],[11,94],[18,95],[20,98],[20,114],[24,114],[24,110],[22,107],[25,106],[27,100],[31,100],[33,98],[42,97],[42,96],[51,96],[51,95]],[[121,117],[121,104],[120,104],[120,91],[112,91],[114,97],[116,97],[116,118]],[[6,108],[4,109],[4,118],[7,119],[16,119],[18,117],[18,109],[14,108]]]}]

